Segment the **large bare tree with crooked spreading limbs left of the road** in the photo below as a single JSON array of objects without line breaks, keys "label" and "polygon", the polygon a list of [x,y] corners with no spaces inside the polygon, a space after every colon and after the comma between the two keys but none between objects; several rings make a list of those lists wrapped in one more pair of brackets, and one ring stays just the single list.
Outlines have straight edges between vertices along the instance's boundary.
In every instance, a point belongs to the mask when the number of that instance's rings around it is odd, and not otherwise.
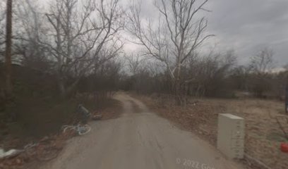
[{"label": "large bare tree with crooked spreading limbs left of the road", "polygon": [[[79,10],[78,10],[79,9]],[[49,42],[41,42],[51,51],[56,63],[56,73],[62,96],[76,87],[80,77],[89,72],[105,44],[112,46],[110,57],[116,56],[123,43],[116,37],[124,26],[119,0],[55,0],[46,13],[51,26]],[[67,84],[67,77],[74,82]]]}]

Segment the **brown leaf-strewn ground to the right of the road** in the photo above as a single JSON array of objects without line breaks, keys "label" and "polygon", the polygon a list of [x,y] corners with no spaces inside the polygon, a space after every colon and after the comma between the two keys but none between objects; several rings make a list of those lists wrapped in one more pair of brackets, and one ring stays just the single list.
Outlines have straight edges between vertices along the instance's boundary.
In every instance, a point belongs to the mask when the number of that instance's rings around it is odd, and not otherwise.
[{"label": "brown leaf-strewn ground to the right of the road", "polygon": [[[288,154],[280,151],[280,144],[288,142],[277,125],[275,117],[284,117],[283,103],[260,99],[189,99],[186,108],[173,106],[168,96],[139,96],[152,111],[167,118],[184,130],[198,134],[210,144],[217,142],[217,116],[232,113],[246,119],[245,154],[247,168],[286,169]],[[284,118],[282,118],[284,119]],[[284,122],[283,122],[284,124]],[[288,127],[288,126],[285,126]],[[258,161],[258,163],[256,163]]]}]

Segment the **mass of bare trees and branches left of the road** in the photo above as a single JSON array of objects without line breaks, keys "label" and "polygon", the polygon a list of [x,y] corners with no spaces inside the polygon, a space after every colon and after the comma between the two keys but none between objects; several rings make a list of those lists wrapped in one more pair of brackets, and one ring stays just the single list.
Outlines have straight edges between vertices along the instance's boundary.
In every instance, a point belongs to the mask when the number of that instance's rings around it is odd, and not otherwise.
[{"label": "mass of bare trees and branches left of the road", "polygon": [[[119,0],[47,3],[42,8],[37,1],[13,1],[13,63],[53,75],[62,98],[75,94],[85,83],[80,80],[93,75],[91,82],[101,75],[99,81],[106,80],[114,89],[116,84],[109,79],[119,74],[115,61],[124,45],[119,35],[124,29]],[[0,8],[0,56],[4,61],[6,4],[2,1]]]}]

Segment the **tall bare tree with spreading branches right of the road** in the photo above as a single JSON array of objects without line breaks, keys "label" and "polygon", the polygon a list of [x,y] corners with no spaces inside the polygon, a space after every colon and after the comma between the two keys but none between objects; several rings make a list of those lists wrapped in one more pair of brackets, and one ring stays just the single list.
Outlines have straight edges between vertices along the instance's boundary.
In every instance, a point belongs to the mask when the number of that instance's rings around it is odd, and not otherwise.
[{"label": "tall bare tree with spreading branches right of the road", "polygon": [[[193,56],[198,46],[213,35],[205,35],[208,22],[199,18],[200,11],[208,0],[159,0],[155,7],[160,13],[157,25],[151,20],[142,20],[140,5],[131,6],[128,15],[128,31],[138,38],[136,44],[145,49],[145,54],[162,61],[169,72],[174,86],[177,104],[185,104],[186,98],[181,86],[193,79],[181,76],[182,68]],[[145,22],[146,21],[146,22]]]}]

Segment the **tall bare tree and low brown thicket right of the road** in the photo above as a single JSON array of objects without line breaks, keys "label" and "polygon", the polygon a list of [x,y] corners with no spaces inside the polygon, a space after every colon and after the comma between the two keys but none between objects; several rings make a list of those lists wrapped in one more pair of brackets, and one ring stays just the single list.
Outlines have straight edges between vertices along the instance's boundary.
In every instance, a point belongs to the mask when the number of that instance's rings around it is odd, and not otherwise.
[{"label": "tall bare tree and low brown thicket right of the road", "polygon": [[[138,92],[171,94],[176,104],[184,106],[188,95],[231,97],[235,90],[259,97],[275,95],[276,91],[283,94],[287,73],[270,72],[270,49],[261,50],[248,65],[240,67],[236,66],[234,51],[206,55],[198,52],[203,42],[214,36],[206,31],[205,13],[210,12],[205,8],[207,3],[208,0],[154,1],[157,20],[143,17],[141,4],[130,6],[127,30],[135,37],[133,43],[142,46],[143,58],[139,61],[139,56],[135,56],[135,61],[128,61],[133,76],[127,85]],[[147,60],[147,66],[139,66]]]}]

